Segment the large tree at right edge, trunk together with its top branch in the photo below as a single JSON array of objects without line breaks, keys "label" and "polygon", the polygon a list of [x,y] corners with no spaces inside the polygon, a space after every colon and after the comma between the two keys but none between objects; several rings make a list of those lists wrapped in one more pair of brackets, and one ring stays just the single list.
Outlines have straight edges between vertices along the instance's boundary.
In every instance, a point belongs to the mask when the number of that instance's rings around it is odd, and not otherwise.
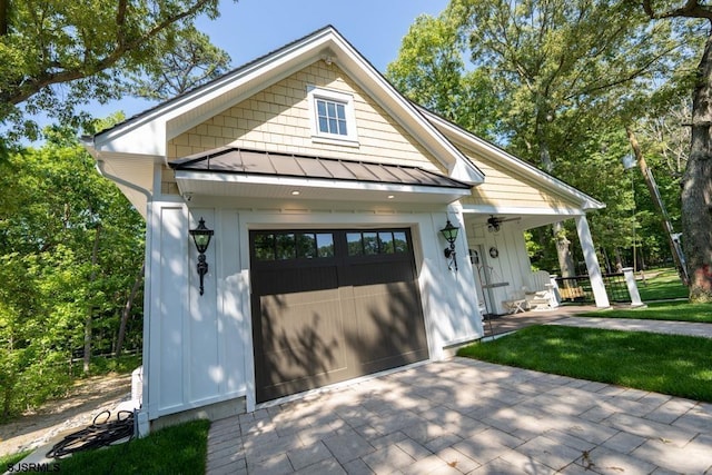
[{"label": "large tree at right edge, trunk together with its top branch", "polygon": [[[690,155],[681,180],[683,249],[690,275],[690,300],[712,301],[712,6],[705,1],[643,0],[652,20],[699,20],[708,38],[692,91]],[[661,23],[661,21],[655,21]]]}]

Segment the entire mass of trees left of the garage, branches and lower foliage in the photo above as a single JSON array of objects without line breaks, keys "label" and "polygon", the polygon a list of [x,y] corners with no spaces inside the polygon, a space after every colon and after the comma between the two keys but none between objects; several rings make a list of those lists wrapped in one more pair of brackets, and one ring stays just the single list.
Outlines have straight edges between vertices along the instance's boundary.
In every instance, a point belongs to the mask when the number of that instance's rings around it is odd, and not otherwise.
[{"label": "entire mass of trees left of the garage, branches and lower foliage", "polygon": [[229,56],[194,27],[217,7],[0,0],[0,420],[61,395],[92,356],[141,348],[145,222],[78,141],[122,116],[82,108],[221,75]]}]

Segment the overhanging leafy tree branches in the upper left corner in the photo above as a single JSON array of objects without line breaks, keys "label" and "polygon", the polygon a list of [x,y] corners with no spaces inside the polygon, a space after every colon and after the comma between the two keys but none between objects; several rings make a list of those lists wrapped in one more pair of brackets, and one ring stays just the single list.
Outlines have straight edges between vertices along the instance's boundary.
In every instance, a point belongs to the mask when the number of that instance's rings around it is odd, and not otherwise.
[{"label": "overhanging leafy tree branches in the upper left corner", "polygon": [[0,0],[0,125],[10,127],[0,145],[37,138],[29,116],[76,127],[88,119],[79,105],[147,93],[130,79],[162,96],[201,80],[192,68],[219,73],[229,58],[195,30],[198,16],[216,18],[218,0]]}]

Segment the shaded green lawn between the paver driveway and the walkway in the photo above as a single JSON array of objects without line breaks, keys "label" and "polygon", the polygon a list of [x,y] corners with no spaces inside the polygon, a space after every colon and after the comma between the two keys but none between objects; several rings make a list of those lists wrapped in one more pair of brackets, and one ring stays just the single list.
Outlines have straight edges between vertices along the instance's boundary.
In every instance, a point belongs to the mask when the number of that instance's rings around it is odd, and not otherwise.
[{"label": "shaded green lawn between the paver driveway and the walkway", "polygon": [[534,326],[459,356],[712,402],[712,339]]}]

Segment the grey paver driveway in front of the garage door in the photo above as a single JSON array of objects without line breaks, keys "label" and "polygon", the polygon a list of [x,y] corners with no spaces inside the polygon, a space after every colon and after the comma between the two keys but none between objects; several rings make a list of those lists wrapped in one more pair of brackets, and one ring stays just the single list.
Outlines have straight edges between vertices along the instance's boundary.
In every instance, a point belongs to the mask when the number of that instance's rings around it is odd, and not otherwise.
[{"label": "grey paver driveway in front of the garage door", "polygon": [[464,358],[215,422],[209,474],[712,474],[712,405]]}]

